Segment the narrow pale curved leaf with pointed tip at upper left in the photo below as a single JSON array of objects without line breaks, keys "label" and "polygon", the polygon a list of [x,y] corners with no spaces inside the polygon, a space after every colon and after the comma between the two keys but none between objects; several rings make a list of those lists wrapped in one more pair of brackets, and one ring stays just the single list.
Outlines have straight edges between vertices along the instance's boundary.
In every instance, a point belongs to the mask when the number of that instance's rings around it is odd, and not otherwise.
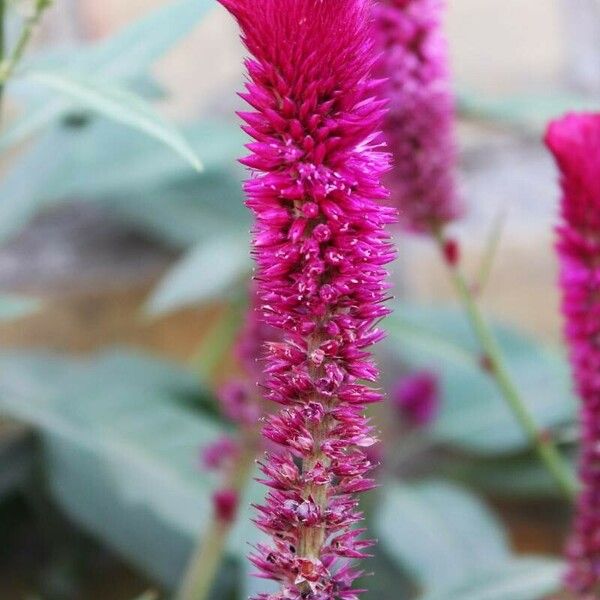
[{"label": "narrow pale curved leaf with pointed tip at upper left", "polygon": [[150,104],[125,88],[60,71],[28,71],[26,77],[114,121],[143,131],[173,149],[196,170],[202,170],[200,160],[186,139]]}]

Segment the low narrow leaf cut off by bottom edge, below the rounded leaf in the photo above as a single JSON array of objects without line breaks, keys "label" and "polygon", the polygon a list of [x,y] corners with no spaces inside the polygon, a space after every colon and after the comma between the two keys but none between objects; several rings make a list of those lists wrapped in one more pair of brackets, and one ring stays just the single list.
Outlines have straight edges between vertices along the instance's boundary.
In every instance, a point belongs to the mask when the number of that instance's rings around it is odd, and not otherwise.
[{"label": "low narrow leaf cut off by bottom edge, below the rounded leaf", "polygon": [[564,566],[548,558],[512,559],[421,600],[540,600],[558,591]]}]

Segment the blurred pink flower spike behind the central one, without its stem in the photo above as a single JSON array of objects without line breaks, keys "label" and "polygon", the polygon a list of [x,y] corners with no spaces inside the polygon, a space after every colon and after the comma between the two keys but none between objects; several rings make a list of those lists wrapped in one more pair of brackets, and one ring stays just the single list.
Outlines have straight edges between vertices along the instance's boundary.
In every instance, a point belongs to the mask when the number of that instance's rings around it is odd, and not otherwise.
[{"label": "blurred pink flower spike behind the central one, without its stem", "polygon": [[394,157],[386,183],[402,226],[424,233],[461,213],[444,5],[443,0],[379,0],[374,9],[380,93],[390,100],[384,129]]}]

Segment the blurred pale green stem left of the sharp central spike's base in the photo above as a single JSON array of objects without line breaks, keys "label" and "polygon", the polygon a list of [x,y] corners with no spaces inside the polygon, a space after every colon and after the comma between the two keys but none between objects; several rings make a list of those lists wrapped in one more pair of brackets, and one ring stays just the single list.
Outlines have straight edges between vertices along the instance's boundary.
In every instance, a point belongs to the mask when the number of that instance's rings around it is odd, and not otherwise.
[{"label": "blurred pale green stem left of the sharp central spike's base", "polygon": [[[256,437],[249,434],[244,440],[244,447],[235,468],[225,484],[227,489],[235,491],[238,496],[242,495],[250,479],[252,465],[256,459],[256,448]],[[202,535],[188,563],[181,587],[177,592],[177,600],[208,600],[223,561],[227,538],[234,524],[235,520],[223,521],[216,515],[211,518],[207,531]]]}]

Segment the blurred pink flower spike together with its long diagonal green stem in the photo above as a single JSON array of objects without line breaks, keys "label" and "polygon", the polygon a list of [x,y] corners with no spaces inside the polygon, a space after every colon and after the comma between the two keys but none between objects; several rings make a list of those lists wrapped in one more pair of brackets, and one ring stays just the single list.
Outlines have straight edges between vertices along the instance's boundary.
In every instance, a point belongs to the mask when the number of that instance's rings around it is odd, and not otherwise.
[{"label": "blurred pink flower spike together with its long diagonal green stem", "polygon": [[[482,368],[496,382],[561,492],[572,500],[576,484],[570,468],[523,401],[480,311],[479,290],[467,283],[460,269],[460,246],[445,235],[447,225],[462,212],[455,181],[454,101],[442,28],[445,4],[444,0],[381,0],[374,9],[381,50],[378,74],[387,78],[380,90],[391,104],[385,136],[395,162],[389,175],[392,201],[404,229],[437,243],[481,347]],[[491,258],[484,261],[477,288],[485,283],[490,264]]]}]

